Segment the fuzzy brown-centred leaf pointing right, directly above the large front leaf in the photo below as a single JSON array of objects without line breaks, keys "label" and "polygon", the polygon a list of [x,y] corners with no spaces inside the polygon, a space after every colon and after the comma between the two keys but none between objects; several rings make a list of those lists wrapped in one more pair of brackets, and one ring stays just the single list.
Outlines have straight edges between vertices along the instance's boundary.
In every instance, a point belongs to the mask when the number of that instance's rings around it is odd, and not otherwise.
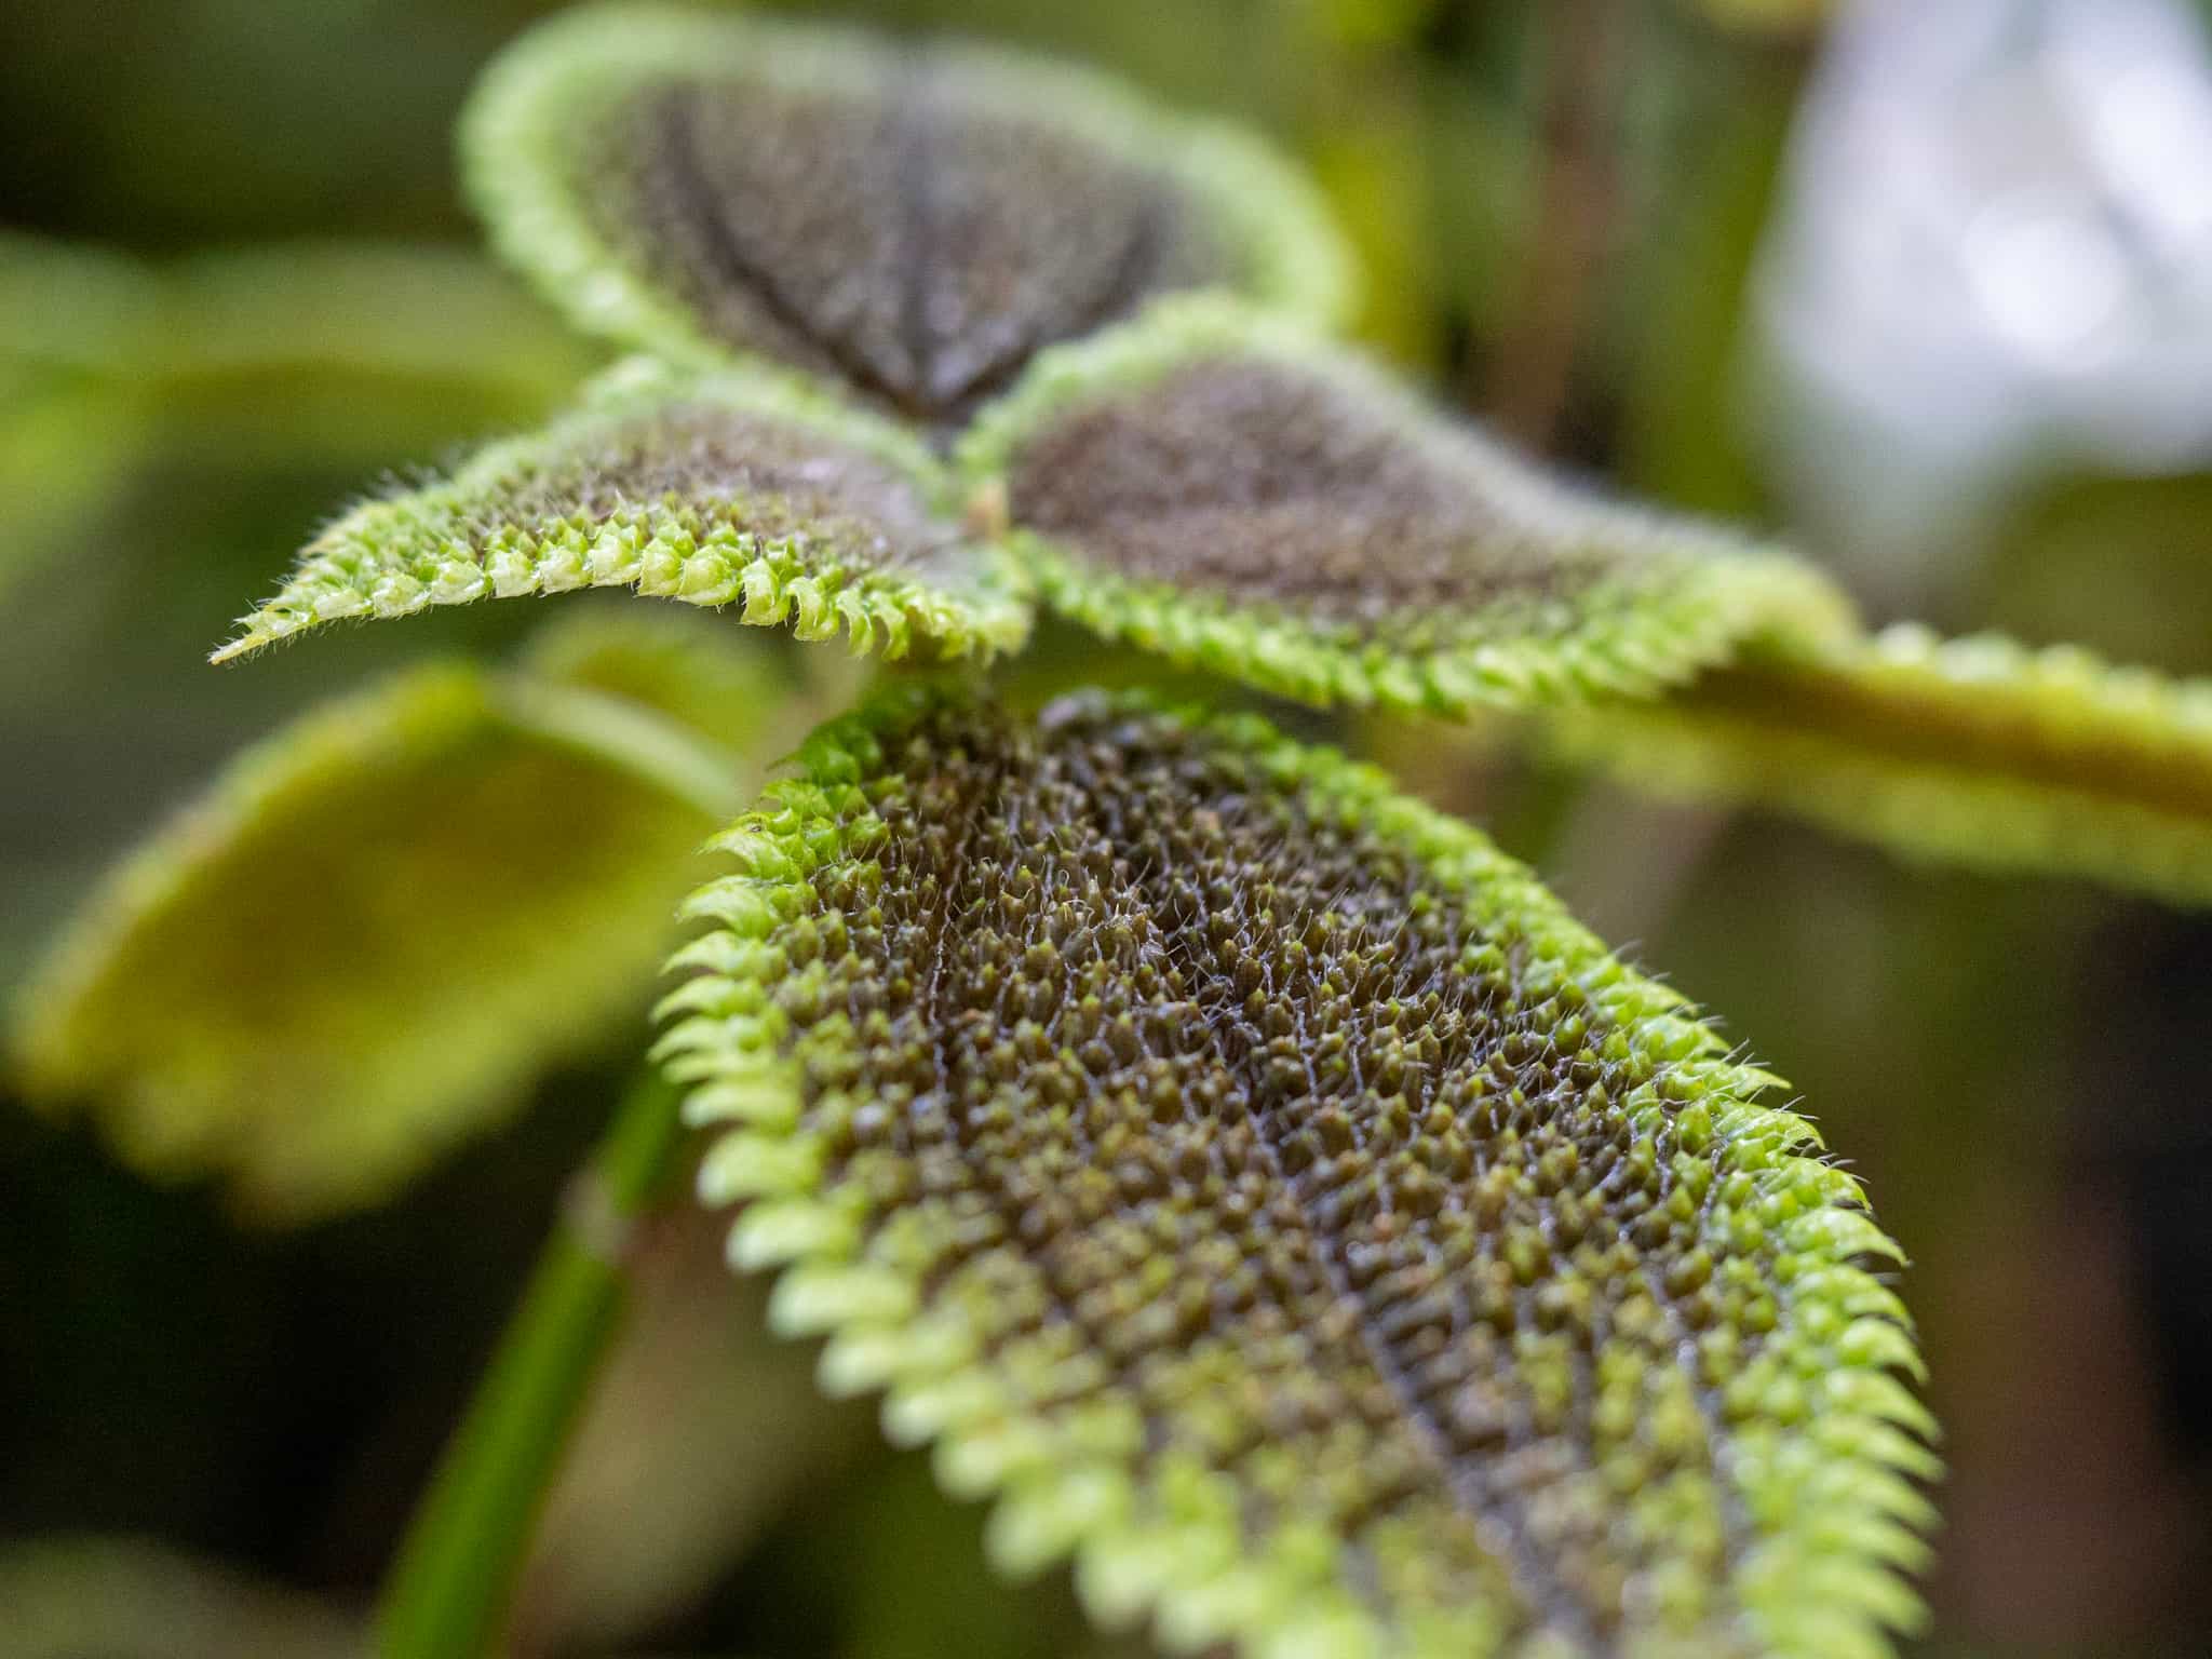
[{"label": "fuzzy brown-centred leaf pointing right, directly above the large front leaf", "polygon": [[1573,491],[1219,303],[1053,352],[962,467],[1055,611],[1312,703],[1648,692],[1851,628],[1812,566]]}]

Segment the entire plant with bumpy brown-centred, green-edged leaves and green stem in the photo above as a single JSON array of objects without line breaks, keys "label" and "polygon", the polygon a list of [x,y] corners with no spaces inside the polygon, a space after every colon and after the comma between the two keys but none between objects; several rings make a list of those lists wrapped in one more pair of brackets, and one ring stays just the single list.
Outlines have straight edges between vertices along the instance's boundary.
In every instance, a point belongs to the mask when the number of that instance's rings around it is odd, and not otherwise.
[{"label": "entire plant with bumpy brown-centred, green-edged leaves and green stem", "polygon": [[[606,586],[880,661],[714,841],[653,1051],[823,1385],[993,1495],[1009,1571],[1073,1559],[1168,1646],[1887,1652],[1936,1429],[1856,1181],[1528,869],[1228,706],[2203,902],[2212,690],[1874,637],[1787,549],[1548,478],[1327,338],[1296,175],[1066,69],[591,9],[489,73],[465,157],[495,248],[641,356],[338,518],[217,655]],[[995,675],[1040,613],[1214,706]],[[641,998],[684,852],[827,695],[734,626],[655,637],[241,761],[33,989],[38,1091],[292,1214],[489,1121]],[[438,869],[456,814],[515,860]],[[469,896],[436,953],[376,902],[409,869]],[[677,1091],[562,1223],[389,1650],[495,1641]]]}]

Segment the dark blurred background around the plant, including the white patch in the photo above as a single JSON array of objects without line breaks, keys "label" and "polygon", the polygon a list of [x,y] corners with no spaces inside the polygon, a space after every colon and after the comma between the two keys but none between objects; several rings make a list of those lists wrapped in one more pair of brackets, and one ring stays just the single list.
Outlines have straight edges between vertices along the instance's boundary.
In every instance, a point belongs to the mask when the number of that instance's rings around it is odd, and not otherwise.
[{"label": "dark blurred background around the plant, including the white patch", "polygon": [[[234,285],[212,367],[0,451],[0,987],[239,743],[526,626],[487,606],[201,666],[334,504],[593,363],[473,263],[453,188],[453,113],[535,11],[0,0],[0,230]],[[2212,7],[807,11],[1046,46],[1263,126],[1360,246],[1376,349],[1568,469],[1787,531],[1876,619],[2212,670]],[[334,294],[385,254],[327,243],[363,241],[451,259]],[[9,305],[0,365],[71,367]],[[411,378],[343,363],[363,332]],[[473,367],[438,385],[447,349]],[[2212,925],[1367,737],[1723,1011],[1865,1175],[1949,1438],[1920,1646],[2212,1650]],[[343,1650],[608,1075],[292,1234],[0,1099],[0,1652],[33,1641],[11,1604],[42,1610],[35,1652]],[[1106,1650],[1064,1584],[995,1584],[978,1515],[865,1409],[812,1405],[708,1228],[670,1223],[646,1281],[529,1652]],[[53,1646],[80,1615],[100,1635]]]}]

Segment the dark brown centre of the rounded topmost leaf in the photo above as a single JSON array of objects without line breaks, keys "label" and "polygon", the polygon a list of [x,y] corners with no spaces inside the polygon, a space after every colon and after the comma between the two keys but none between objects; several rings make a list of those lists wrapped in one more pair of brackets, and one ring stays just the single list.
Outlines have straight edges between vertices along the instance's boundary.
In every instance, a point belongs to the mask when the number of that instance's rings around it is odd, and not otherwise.
[{"label": "dark brown centre of the rounded topmost leaf", "polygon": [[975,108],[927,58],[865,93],[664,84],[604,146],[608,228],[708,332],[929,422],[1042,345],[1228,276],[1166,177]]}]

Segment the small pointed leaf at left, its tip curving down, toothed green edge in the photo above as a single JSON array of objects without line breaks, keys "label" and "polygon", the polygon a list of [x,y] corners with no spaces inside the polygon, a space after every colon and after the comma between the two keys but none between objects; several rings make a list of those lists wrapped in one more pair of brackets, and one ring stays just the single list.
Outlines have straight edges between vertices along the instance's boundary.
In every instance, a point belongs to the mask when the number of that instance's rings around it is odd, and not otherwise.
[{"label": "small pointed leaf at left, its tip curving down, toothed green edge", "polygon": [[553,427],[341,518],[215,661],[343,617],[606,586],[741,604],[801,639],[843,628],[854,653],[989,657],[1026,637],[1029,604],[945,489],[896,427],[635,361]]}]

